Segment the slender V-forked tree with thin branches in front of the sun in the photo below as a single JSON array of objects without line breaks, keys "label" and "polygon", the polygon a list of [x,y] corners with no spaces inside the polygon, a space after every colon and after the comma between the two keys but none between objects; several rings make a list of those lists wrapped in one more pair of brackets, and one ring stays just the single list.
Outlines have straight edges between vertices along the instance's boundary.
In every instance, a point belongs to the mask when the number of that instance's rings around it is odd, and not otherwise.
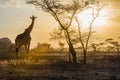
[{"label": "slender V-forked tree with thin branches in front of the sun", "polygon": [[75,20],[77,22],[77,27],[78,27],[78,33],[79,33],[79,42],[81,43],[82,49],[83,49],[83,63],[87,62],[87,50],[88,50],[88,44],[89,44],[89,41],[90,41],[90,38],[92,35],[92,31],[93,31],[92,30],[93,24],[94,24],[95,20],[97,19],[97,17],[99,16],[100,11],[104,7],[104,5],[99,5],[100,2],[98,0],[97,1],[93,0],[93,2],[91,2],[91,3],[94,3],[93,6],[89,6],[89,3],[90,2],[88,2],[87,5],[85,5],[85,6],[88,6],[87,9],[91,9],[92,19],[91,19],[89,26],[88,26],[88,32],[87,32],[86,39],[82,38],[80,21],[78,20],[77,14],[75,16]]}]

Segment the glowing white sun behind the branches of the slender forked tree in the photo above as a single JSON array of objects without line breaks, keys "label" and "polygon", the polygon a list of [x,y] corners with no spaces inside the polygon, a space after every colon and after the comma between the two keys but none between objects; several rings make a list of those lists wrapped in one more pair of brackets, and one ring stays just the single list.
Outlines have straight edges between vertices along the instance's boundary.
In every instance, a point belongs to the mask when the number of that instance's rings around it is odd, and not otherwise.
[{"label": "glowing white sun behind the branches of the slender forked tree", "polygon": [[[94,14],[96,15],[97,12],[95,11]],[[99,15],[97,16],[97,18],[94,20],[93,26],[94,27],[103,27],[104,25],[106,25],[107,24],[106,15],[107,15],[107,11],[105,9],[101,10],[99,12]],[[91,9],[85,10],[85,11],[81,12],[80,14],[78,14],[77,16],[81,22],[82,27],[84,27],[84,28],[89,27],[89,25],[93,19]]]}]

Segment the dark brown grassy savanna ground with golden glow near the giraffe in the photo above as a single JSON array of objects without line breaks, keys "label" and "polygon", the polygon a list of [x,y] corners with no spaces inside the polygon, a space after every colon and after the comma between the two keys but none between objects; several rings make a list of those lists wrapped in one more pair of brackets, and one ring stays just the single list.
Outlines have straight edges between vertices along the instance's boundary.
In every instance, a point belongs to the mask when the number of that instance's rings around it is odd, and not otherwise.
[{"label": "dark brown grassy savanna ground with golden glow near the giraffe", "polygon": [[0,53],[0,80],[120,80],[120,55],[89,53],[87,64],[68,61],[67,53],[22,53],[16,65],[13,52]]}]

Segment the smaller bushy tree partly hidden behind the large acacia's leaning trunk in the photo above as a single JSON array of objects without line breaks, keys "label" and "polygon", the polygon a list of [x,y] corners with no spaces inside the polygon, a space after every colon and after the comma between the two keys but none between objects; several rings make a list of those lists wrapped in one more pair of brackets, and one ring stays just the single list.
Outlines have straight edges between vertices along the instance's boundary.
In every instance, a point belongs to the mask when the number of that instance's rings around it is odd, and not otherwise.
[{"label": "smaller bushy tree partly hidden behind the large acacia's leaning trunk", "polygon": [[[71,36],[72,44],[73,45],[76,44],[78,42],[78,41],[76,42],[76,38],[75,38],[76,37],[75,35],[77,33],[76,30],[74,28],[69,28],[68,32],[69,32],[69,35]],[[63,43],[66,40],[67,44],[69,45],[67,35],[64,33],[64,31],[60,27],[54,29],[54,31],[50,33],[50,36],[51,36],[51,40],[57,40],[58,42],[60,42],[60,44],[61,44],[61,41]],[[71,62],[70,50],[68,52],[68,58],[69,58],[69,62]]]}]

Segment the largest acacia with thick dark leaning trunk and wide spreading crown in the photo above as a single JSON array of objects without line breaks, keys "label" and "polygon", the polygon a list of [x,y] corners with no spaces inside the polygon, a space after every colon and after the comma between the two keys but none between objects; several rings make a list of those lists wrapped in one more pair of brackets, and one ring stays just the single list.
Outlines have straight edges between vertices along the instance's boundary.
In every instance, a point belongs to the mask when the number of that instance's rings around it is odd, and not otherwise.
[{"label": "largest acacia with thick dark leaning trunk and wide spreading crown", "polygon": [[77,0],[68,0],[68,2],[62,2],[62,0],[29,0],[27,3],[33,4],[37,6],[37,8],[41,8],[43,11],[50,13],[59,23],[66,35],[66,41],[69,46],[69,51],[72,55],[72,61],[73,63],[77,63],[76,51],[73,47],[71,37],[68,32],[74,15],[80,7]]}]

